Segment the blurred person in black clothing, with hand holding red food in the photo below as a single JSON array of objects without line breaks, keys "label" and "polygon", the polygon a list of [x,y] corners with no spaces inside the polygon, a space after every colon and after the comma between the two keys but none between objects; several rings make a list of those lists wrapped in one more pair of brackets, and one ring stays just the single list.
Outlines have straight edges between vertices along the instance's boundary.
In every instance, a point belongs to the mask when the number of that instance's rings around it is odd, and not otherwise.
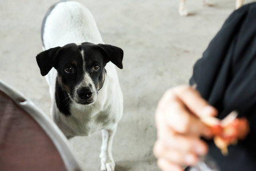
[{"label": "blurred person in black clothing, with hand holding red food", "polygon": [[[230,145],[224,156],[212,139],[207,140],[210,130],[197,116],[223,119],[234,110],[249,121],[250,133]],[[226,19],[194,65],[190,86],[164,93],[156,109],[156,127],[154,153],[162,170],[183,170],[206,153],[221,171],[256,170],[256,3]]]}]

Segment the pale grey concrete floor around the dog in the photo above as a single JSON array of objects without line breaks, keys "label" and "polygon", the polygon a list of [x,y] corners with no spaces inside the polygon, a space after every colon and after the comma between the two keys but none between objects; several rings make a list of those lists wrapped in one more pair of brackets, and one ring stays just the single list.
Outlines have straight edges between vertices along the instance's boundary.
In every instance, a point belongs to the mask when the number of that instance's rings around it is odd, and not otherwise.
[{"label": "pale grey concrete floor around the dog", "polygon": [[[0,0],[0,79],[47,115],[50,96],[35,56],[42,51],[42,19],[55,2]],[[178,15],[178,0],[79,2],[91,10],[104,42],[124,50],[124,69],[118,70],[124,115],[113,142],[116,170],[159,170],[152,154],[157,101],[169,87],[188,84],[193,64],[234,10],[235,0],[212,0],[210,7],[189,0],[188,17]],[[100,132],[70,143],[84,170],[100,170]]]}]

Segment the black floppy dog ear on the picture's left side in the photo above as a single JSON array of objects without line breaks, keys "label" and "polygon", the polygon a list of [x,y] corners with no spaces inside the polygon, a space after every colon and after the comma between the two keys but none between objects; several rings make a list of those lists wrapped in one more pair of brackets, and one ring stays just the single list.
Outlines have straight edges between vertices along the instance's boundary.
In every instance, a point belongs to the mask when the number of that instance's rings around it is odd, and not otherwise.
[{"label": "black floppy dog ear on the picture's left side", "polygon": [[42,76],[48,74],[52,67],[55,66],[56,63],[56,54],[60,50],[61,47],[50,48],[46,51],[40,52],[36,56],[36,62],[40,68],[40,72]]}]

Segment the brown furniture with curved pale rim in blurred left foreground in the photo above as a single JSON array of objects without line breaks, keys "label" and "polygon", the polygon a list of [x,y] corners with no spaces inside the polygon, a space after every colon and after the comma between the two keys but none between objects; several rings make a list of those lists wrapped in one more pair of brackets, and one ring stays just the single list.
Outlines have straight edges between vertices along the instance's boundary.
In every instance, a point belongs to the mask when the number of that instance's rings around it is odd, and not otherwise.
[{"label": "brown furniture with curved pale rim in blurred left foreground", "polygon": [[52,120],[1,80],[0,170],[81,170]]}]

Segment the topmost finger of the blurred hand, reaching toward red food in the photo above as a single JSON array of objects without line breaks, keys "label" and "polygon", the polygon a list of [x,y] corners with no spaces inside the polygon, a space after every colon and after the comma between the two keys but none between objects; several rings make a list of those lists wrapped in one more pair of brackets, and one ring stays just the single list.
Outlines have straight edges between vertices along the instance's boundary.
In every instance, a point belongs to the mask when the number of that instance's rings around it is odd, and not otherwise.
[{"label": "topmost finger of the blurred hand, reaching toward red food", "polygon": [[216,116],[218,113],[217,109],[209,105],[200,93],[191,86],[178,86],[173,88],[172,92],[197,116]]}]

